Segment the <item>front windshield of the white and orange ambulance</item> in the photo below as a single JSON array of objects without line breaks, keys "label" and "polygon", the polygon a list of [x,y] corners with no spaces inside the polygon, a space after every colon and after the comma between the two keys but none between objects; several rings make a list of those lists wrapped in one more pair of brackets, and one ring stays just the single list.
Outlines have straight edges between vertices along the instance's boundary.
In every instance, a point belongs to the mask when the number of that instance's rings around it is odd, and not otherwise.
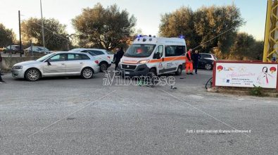
[{"label": "front windshield of the white and orange ambulance", "polygon": [[125,56],[129,57],[149,57],[156,48],[155,44],[132,44],[125,52]]}]

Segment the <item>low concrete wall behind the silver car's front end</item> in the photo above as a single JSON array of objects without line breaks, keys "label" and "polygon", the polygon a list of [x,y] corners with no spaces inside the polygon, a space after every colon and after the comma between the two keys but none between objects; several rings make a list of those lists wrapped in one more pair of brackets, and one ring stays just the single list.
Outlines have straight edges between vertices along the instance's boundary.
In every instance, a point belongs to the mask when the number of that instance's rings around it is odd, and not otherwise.
[{"label": "low concrete wall behind the silver car's front end", "polygon": [[20,63],[23,61],[32,61],[37,60],[41,56],[38,57],[2,57],[2,62],[0,63],[0,68],[4,70],[11,70],[15,63]]}]

